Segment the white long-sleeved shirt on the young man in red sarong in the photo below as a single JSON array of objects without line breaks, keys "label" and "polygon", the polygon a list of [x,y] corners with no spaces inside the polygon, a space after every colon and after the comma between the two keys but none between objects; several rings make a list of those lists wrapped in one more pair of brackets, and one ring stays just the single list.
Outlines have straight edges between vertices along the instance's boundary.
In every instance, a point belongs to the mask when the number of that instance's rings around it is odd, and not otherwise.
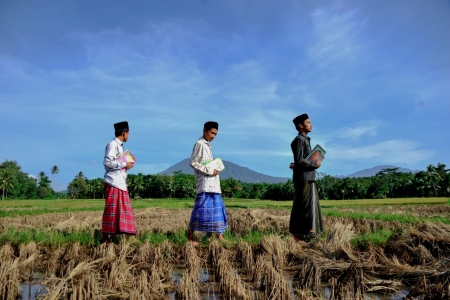
[{"label": "white long-sleeved shirt on the young man in red sarong", "polygon": [[127,172],[121,170],[127,166],[127,163],[116,160],[116,157],[122,153],[122,141],[118,138],[114,138],[106,145],[105,158],[103,160],[106,172],[103,181],[122,191],[127,191]]}]

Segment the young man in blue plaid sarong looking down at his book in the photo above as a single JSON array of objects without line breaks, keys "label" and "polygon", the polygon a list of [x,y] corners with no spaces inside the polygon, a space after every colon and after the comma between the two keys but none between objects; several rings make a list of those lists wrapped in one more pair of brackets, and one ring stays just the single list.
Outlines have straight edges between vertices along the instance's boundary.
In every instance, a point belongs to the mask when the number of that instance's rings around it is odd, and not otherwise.
[{"label": "young man in blue plaid sarong looking down at his book", "polygon": [[211,144],[219,130],[217,122],[208,121],[203,126],[203,135],[192,149],[190,166],[195,171],[197,197],[189,222],[188,238],[194,245],[194,231],[215,232],[220,240],[228,227],[228,217],[220,189],[219,171],[203,165],[213,159]]}]

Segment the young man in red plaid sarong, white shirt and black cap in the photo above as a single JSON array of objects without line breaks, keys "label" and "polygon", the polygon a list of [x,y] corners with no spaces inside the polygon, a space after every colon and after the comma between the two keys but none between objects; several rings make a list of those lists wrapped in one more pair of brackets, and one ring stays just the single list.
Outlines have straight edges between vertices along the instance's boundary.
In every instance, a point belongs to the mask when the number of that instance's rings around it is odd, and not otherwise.
[{"label": "young man in red plaid sarong, white shirt and black cap", "polygon": [[102,242],[109,242],[109,235],[136,235],[136,224],[127,188],[127,170],[132,162],[117,161],[123,153],[123,143],[128,141],[128,122],[114,124],[115,138],[106,145],[104,176],[105,210],[102,218]]}]

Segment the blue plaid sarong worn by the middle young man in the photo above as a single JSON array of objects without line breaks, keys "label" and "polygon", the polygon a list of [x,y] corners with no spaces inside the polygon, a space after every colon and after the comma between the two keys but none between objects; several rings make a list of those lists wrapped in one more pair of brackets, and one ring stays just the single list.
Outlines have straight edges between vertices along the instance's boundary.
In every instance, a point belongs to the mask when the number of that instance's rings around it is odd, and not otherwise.
[{"label": "blue plaid sarong worn by the middle young man", "polygon": [[218,193],[199,193],[195,198],[189,229],[224,233],[228,227],[227,211]]}]

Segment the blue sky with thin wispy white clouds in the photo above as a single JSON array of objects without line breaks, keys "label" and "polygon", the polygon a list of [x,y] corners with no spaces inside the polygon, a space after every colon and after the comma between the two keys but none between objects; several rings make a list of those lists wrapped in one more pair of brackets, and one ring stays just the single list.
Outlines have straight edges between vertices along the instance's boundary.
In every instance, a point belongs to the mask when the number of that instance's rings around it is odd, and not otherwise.
[{"label": "blue sky with thin wispy white clouds", "polygon": [[127,120],[155,174],[215,120],[215,157],[290,177],[306,112],[327,174],[450,167],[449,28],[444,0],[0,0],[0,160],[103,177]]}]

